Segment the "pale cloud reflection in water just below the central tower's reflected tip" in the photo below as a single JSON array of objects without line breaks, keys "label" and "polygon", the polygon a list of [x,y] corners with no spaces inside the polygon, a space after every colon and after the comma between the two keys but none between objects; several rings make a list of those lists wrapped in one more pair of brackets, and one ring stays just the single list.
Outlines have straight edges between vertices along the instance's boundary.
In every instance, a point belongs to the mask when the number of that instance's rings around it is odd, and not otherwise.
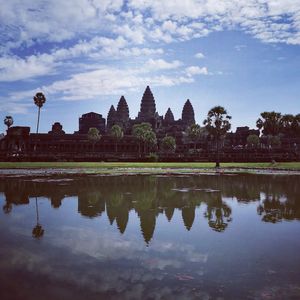
[{"label": "pale cloud reflection in water just below the central tower's reflected tip", "polygon": [[197,252],[192,245],[157,240],[148,253],[136,238],[126,240],[111,232],[100,235],[90,228],[63,227],[60,236],[49,235],[52,244],[70,249],[76,255],[88,255],[97,261],[134,260],[149,269],[180,268],[183,262],[206,263],[208,258],[208,254]]}]

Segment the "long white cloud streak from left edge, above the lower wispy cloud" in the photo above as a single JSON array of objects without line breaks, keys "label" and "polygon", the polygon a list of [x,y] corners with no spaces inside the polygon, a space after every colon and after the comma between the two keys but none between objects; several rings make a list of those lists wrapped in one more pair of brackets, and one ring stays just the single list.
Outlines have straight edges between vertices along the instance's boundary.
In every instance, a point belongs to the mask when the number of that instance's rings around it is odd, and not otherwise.
[{"label": "long white cloud streak from left edge, above the lower wispy cloud", "polygon": [[[99,60],[100,58],[121,59],[124,57],[155,56],[163,54],[163,49],[130,47],[123,37],[115,39],[94,37],[89,41],[79,41],[69,48],[52,50],[49,53],[30,55],[24,58],[16,55],[0,57],[0,82],[27,80],[59,73],[59,68],[96,68],[93,64],[75,63],[73,59]],[[70,63],[68,63],[70,62]]]}]

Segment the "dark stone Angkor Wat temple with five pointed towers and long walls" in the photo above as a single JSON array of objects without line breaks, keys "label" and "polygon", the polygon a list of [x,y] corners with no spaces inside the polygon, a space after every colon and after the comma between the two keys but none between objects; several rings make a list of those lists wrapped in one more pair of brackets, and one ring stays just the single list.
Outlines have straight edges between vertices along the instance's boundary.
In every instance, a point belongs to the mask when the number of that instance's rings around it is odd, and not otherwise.
[{"label": "dark stone Angkor Wat temple with five pointed towers and long walls", "polygon": [[[133,126],[149,123],[157,137],[156,145],[147,145],[140,153],[139,141],[132,135]],[[187,129],[195,124],[195,114],[190,100],[183,105],[181,118],[175,120],[168,108],[164,116],[156,111],[154,96],[147,86],[140,104],[138,116],[129,117],[129,107],[121,96],[117,107],[113,105],[107,119],[101,114],[89,112],[79,118],[79,130],[73,134],[65,133],[63,126],[56,122],[48,133],[30,133],[30,127],[13,126],[8,128],[6,136],[0,139],[0,160],[24,161],[137,161],[148,160],[149,153],[157,153],[160,160],[168,161],[214,161],[216,144],[211,136],[202,134],[197,141],[187,135]],[[110,134],[113,125],[119,125],[124,137],[118,141]],[[91,143],[88,138],[90,128],[97,128],[101,139]],[[259,149],[247,148],[249,135],[260,135],[259,130],[238,127],[222,141],[221,161],[277,161],[300,160],[300,138],[283,139],[280,147],[267,147],[261,139]],[[161,141],[165,136],[176,140],[176,151],[164,153]]]}]

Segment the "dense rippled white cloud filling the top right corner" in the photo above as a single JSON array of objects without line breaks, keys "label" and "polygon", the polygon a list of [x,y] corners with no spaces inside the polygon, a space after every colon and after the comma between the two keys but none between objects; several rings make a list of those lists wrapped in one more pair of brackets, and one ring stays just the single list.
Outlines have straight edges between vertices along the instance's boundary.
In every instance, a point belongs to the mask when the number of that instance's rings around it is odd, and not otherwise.
[{"label": "dense rippled white cloud filling the top right corner", "polygon": [[172,38],[190,39],[213,31],[241,29],[264,42],[300,44],[299,0],[131,0],[129,7],[150,11]]}]

